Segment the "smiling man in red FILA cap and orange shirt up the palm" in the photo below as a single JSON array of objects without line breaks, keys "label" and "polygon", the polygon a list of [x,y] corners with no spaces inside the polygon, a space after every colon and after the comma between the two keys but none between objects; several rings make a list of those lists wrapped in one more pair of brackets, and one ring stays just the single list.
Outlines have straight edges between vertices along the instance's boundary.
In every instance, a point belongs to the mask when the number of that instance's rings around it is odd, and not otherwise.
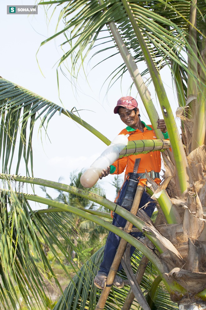
[{"label": "smiling man in red FILA cap and orange shirt up the palm", "polygon": [[[115,106],[114,113],[119,114],[121,121],[127,127],[123,129],[120,134],[129,134],[128,140],[135,141],[135,140],[144,140],[144,139],[156,139],[154,130],[151,125],[146,125],[143,121],[140,120],[140,111],[138,109],[137,101],[130,96],[121,97],[117,105]],[[164,123],[164,120],[158,120],[157,128],[159,128],[164,135],[165,139],[168,139],[167,129]],[[100,177],[103,178],[107,176],[109,173],[111,174],[120,174],[125,170],[125,181],[121,187],[120,193],[118,197],[115,199],[115,202],[119,205],[122,205],[123,199],[125,197],[125,191],[127,189],[127,185],[129,182],[129,179],[132,176],[134,165],[135,165],[135,159],[140,158],[139,167],[137,170],[138,178],[139,178],[139,185],[146,185],[146,177],[145,177],[145,170],[149,172],[150,176],[154,179],[154,181],[159,184],[161,182],[159,178],[159,172],[161,170],[161,158],[160,158],[160,152],[150,152],[147,154],[139,154],[139,155],[130,155],[128,157],[123,157],[121,159],[118,159],[113,163],[111,166],[109,166],[106,169],[102,171],[102,175]],[[126,169],[125,169],[126,168]],[[145,207],[145,204],[147,206]],[[126,208],[125,206],[123,206]],[[151,217],[154,208],[155,203],[152,201],[150,196],[143,192],[140,206],[139,208],[143,208],[147,215]],[[117,227],[125,227],[126,220],[122,218],[120,215],[114,213],[113,214],[113,225]],[[135,238],[141,238],[142,233],[141,232],[132,232],[131,235],[133,235]],[[97,275],[94,278],[94,284],[96,287],[103,289],[106,286],[106,278],[110,270],[110,266],[113,262],[113,259],[115,257],[116,249],[118,247],[120,241],[120,237],[118,235],[115,235],[113,232],[109,232],[109,235],[107,237],[106,245],[105,245],[105,251],[104,251],[104,258],[100,265],[100,270],[98,271]],[[130,255],[132,256],[135,248],[131,247]],[[118,271],[122,269],[122,266],[120,264]],[[124,282],[121,279],[120,276],[115,276],[113,284],[116,287],[123,287]]]}]

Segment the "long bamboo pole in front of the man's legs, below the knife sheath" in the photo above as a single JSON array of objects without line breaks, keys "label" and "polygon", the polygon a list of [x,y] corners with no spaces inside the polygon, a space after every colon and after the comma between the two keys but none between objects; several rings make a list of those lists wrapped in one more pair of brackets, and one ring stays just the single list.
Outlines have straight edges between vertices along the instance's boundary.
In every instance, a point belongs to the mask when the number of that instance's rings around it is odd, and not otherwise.
[{"label": "long bamboo pole in front of the man's legs, below the knife sheath", "polygon": [[[133,204],[132,204],[132,207],[130,210],[130,212],[132,214],[136,214],[138,209],[139,209],[140,200],[142,198],[143,191],[144,191],[144,187],[141,185],[138,185],[137,189],[136,189],[136,193],[135,193],[135,198],[133,200]],[[129,233],[132,229],[132,226],[133,225],[129,221],[127,221],[124,231]],[[107,286],[102,290],[100,299],[96,305],[95,310],[101,310],[101,309],[104,309],[104,307],[105,307],[107,297],[109,295],[112,283],[114,282],[115,275],[116,275],[118,268],[120,266],[120,262],[121,262],[123,254],[124,254],[126,245],[127,245],[127,241],[124,239],[121,239],[119,246],[118,246],[118,249],[116,251],[115,258],[113,260],[113,263],[110,267],[109,274],[108,274],[107,279],[106,279],[106,285]]]}]

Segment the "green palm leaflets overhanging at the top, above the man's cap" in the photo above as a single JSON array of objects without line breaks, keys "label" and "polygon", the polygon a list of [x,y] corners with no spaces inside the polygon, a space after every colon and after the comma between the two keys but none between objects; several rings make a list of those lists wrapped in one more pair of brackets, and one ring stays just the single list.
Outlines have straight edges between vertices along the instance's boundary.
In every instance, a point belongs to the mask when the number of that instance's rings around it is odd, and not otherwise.
[{"label": "green palm leaflets overhanging at the top, above the man's cap", "polygon": [[[64,32],[65,34],[69,33],[68,39],[62,43],[62,46],[66,49],[69,43],[70,49],[67,48],[65,51],[59,62],[60,65],[73,53],[72,68],[76,67],[78,71],[78,59],[83,62],[92,48],[97,49],[94,54],[113,49],[116,43],[114,39],[111,41],[110,36],[105,32],[105,25],[110,21],[115,22],[135,62],[138,63],[144,60],[139,42],[122,2],[120,0],[101,1],[101,5],[99,2],[97,0],[61,1],[63,6],[61,14],[64,15],[65,28],[42,42],[42,44],[45,44],[48,40]],[[60,2],[40,1],[39,4],[52,3],[57,4]],[[181,3],[159,0],[145,3],[134,0],[130,1],[129,4],[158,70],[165,65],[171,67],[171,64],[176,62],[183,70],[182,78],[184,79],[187,74],[190,74],[185,61],[188,50],[191,50],[195,57],[188,43],[191,2],[189,0],[184,0]],[[104,11],[104,14],[102,11]],[[197,48],[199,55],[203,48],[205,14],[205,3],[199,1],[197,5]],[[110,57],[115,56],[115,54],[116,52],[111,53],[110,51]],[[104,59],[107,59],[107,57]],[[197,61],[201,65],[201,61],[199,59]],[[120,66],[115,70],[113,79],[115,79],[118,72],[120,77],[126,71],[125,64],[121,65],[120,71],[119,68]],[[147,69],[144,70],[144,74],[146,73],[148,73]]]}]

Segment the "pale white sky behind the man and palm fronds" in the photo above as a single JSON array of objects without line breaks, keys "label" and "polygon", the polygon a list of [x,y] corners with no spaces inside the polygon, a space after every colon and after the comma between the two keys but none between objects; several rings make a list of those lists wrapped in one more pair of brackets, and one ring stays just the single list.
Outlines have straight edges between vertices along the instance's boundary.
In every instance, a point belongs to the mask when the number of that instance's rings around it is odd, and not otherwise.
[{"label": "pale white sky behind the man and palm fronds", "polygon": [[[38,15],[7,15],[7,5],[33,5],[35,0],[1,0],[0,2],[0,20],[1,20],[1,50],[0,50],[0,75],[18,85],[21,85],[33,92],[53,101],[58,105],[71,110],[74,106],[81,111],[80,116],[83,120],[90,123],[110,140],[124,128],[118,115],[113,113],[114,106],[121,96],[129,95],[128,89],[131,84],[129,75],[124,77],[122,84],[116,82],[108,92],[106,89],[108,83],[103,86],[105,79],[108,77],[111,68],[117,67],[121,63],[120,56],[110,61],[104,62],[90,72],[91,67],[101,60],[103,55],[96,56],[89,65],[85,65],[87,73],[86,78],[83,73],[78,79],[78,89],[75,91],[70,83],[70,76],[67,72],[67,78],[61,74],[60,78],[60,98],[58,96],[58,87],[56,79],[56,68],[58,59],[63,52],[59,47],[64,38],[50,41],[43,45],[43,40],[54,34],[58,12],[54,14],[49,25],[43,6],[38,6]],[[52,10],[50,11],[50,14]],[[37,50],[39,52],[37,54]],[[42,73],[39,69],[42,70]],[[89,60],[89,58],[88,58]],[[141,70],[140,70],[141,71]],[[177,102],[173,97],[171,89],[170,73],[166,72],[163,76],[166,90],[169,93],[169,100],[175,113]],[[156,96],[152,86],[149,90],[156,103]],[[131,96],[136,97],[137,91],[133,87]],[[146,123],[148,116],[140,98],[137,96],[141,120]],[[160,108],[157,107],[159,117],[162,118]],[[105,149],[105,144],[98,138],[88,132],[86,129],[76,124],[68,117],[54,116],[49,122],[47,134],[49,139],[42,132],[37,137],[38,127],[34,130],[33,151],[34,151],[34,177],[45,178],[52,181],[58,181],[63,177],[62,182],[69,184],[69,176],[72,171],[82,168],[88,168],[91,163]],[[13,172],[15,173],[15,171]],[[22,163],[20,175],[25,175],[24,165]],[[106,190],[106,197],[110,200],[115,198],[115,188],[111,187],[110,181],[113,176],[104,178],[101,182]],[[37,194],[44,196],[43,192],[36,189]],[[54,192],[52,196],[55,197]],[[42,206],[43,208],[43,206]]]}]

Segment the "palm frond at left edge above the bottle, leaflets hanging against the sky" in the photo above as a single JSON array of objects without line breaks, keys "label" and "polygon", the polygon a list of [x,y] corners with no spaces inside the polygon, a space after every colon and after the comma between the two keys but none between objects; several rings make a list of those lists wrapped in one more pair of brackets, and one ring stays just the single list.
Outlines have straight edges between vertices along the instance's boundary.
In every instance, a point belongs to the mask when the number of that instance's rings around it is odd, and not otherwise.
[{"label": "palm frond at left edge above the bottle, leaflets hanging against the sky", "polygon": [[[26,171],[33,171],[32,136],[36,122],[40,129],[47,130],[48,123],[56,113],[70,117],[87,128],[107,145],[110,141],[95,128],[74,113],[56,105],[52,101],[26,88],[0,78],[0,158],[2,172],[10,173],[12,161],[16,157],[16,173],[22,157]],[[33,173],[32,173],[33,174]]]}]

